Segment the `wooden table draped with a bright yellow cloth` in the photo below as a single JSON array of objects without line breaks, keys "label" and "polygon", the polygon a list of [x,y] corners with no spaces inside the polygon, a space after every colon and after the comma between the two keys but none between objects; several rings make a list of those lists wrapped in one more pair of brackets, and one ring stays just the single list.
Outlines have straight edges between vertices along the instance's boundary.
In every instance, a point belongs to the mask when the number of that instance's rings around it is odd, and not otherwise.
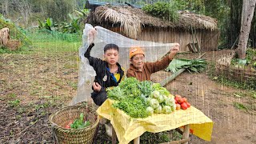
[{"label": "wooden table draped with a bright yellow cloth", "polygon": [[[103,118],[109,119],[113,125],[112,142],[128,144],[139,143],[139,137],[146,131],[158,133],[166,130],[182,131],[182,140],[167,143],[187,143],[189,134],[210,141],[214,123],[202,111],[190,106],[187,110],[175,110],[171,114],[154,114],[147,118],[130,118],[124,111],[111,106],[114,101],[106,100],[97,110]],[[182,130],[180,130],[180,127]]]}]

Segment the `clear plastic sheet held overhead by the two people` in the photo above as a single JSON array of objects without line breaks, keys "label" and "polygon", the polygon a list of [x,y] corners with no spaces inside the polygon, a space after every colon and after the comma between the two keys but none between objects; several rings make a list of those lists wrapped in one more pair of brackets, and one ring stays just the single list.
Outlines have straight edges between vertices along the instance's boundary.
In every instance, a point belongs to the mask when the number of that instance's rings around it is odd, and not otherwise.
[{"label": "clear plastic sheet held overhead by the two people", "polygon": [[[137,41],[131,38],[126,38],[121,34],[114,33],[101,26],[94,27],[97,30],[96,38],[94,39],[95,46],[92,48],[90,55],[95,58],[103,58],[103,48],[108,43],[114,43],[119,46],[119,60],[118,63],[125,70],[128,70],[130,65],[129,49],[131,46],[140,46],[145,52],[146,62],[155,62],[162,58],[175,43],[159,43],[148,41]],[[88,31],[93,29],[93,26],[86,24],[82,35],[82,46],[79,49],[80,66],[78,70],[78,93],[72,99],[70,105],[75,105],[78,102],[93,102],[90,98],[92,92],[92,83],[95,78],[95,71],[90,66],[88,59],[84,57],[84,54],[88,48]],[[126,71],[125,71],[126,74]]]}]

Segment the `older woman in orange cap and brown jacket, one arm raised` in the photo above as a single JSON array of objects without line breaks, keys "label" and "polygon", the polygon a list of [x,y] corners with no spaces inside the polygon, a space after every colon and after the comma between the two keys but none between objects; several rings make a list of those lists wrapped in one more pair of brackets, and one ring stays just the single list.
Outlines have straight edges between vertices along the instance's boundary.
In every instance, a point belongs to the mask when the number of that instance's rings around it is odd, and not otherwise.
[{"label": "older woman in orange cap and brown jacket, one arm raised", "polygon": [[130,67],[127,70],[127,77],[137,78],[139,81],[150,81],[151,74],[165,69],[179,50],[179,44],[176,43],[170,50],[170,54],[157,62],[145,62],[144,51],[140,47],[131,47],[129,58]]}]

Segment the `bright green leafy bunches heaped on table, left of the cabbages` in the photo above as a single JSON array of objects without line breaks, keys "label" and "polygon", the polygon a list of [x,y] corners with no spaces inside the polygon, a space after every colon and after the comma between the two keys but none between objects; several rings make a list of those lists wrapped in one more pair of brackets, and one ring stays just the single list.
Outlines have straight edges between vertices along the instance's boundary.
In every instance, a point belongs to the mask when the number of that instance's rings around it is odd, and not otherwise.
[{"label": "bright green leafy bunches heaped on table, left of the cabbages", "polygon": [[[141,97],[142,94],[149,94],[150,90],[142,88],[150,87],[150,82],[139,82],[136,78],[125,78],[118,86],[107,88],[107,97],[116,100],[113,106],[119,108],[130,115],[132,118],[146,118],[146,102]],[[140,87],[143,89],[141,90]]]}]

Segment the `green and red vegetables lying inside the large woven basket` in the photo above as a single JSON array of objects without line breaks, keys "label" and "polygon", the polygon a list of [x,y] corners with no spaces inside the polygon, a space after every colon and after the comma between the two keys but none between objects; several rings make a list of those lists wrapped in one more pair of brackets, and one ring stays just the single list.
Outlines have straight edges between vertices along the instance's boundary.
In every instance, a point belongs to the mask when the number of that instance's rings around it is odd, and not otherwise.
[{"label": "green and red vegetables lying inside the large woven basket", "polygon": [[90,126],[90,122],[89,121],[84,121],[84,114],[81,113],[78,119],[75,119],[74,122],[70,121],[65,128],[66,129],[82,129],[85,128],[87,126]]}]

